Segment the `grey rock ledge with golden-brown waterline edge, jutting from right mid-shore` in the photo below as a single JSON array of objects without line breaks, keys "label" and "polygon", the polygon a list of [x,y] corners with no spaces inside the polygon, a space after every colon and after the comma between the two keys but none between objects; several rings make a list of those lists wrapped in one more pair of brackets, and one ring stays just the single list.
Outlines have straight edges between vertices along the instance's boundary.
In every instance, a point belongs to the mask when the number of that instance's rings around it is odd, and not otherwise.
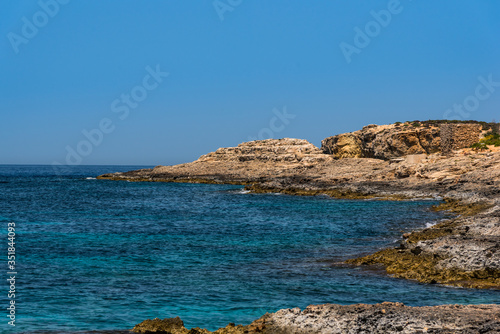
[{"label": "grey rock ledge with golden-brown waterline edge, jutting from right mid-shore", "polygon": [[423,283],[498,289],[500,207],[449,202],[443,209],[456,210],[462,216],[405,234],[397,248],[384,249],[347,263],[383,264],[387,272],[396,277]]}]

